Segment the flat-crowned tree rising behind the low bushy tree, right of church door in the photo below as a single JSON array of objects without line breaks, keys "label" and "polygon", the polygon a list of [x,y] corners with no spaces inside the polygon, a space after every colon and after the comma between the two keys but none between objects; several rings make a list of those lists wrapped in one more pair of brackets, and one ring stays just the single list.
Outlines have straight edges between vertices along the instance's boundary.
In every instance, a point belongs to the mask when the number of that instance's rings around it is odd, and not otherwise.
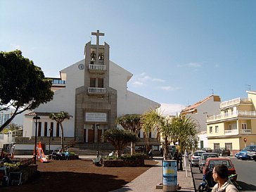
[{"label": "flat-crowned tree rising behind the low bushy tree, right of church door", "polygon": [[[122,127],[129,132],[133,132],[136,136],[141,130],[141,115],[139,114],[127,114],[122,117],[118,117],[115,122],[122,125]],[[135,153],[135,143],[131,142],[131,155]]]}]

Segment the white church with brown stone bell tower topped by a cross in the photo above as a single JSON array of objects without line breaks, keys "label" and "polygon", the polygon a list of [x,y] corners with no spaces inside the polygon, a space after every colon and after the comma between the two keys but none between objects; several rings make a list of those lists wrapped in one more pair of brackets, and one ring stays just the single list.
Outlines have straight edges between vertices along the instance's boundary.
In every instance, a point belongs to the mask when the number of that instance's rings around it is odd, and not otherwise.
[{"label": "white church with brown stone bell tower topped by a cross", "polygon": [[[33,149],[33,142],[25,141],[34,139],[35,115],[40,117],[37,141],[47,149],[49,137],[58,141],[61,135],[59,124],[49,119],[51,113],[65,111],[72,115],[63,122],[67,142],[69,139],[77,143],[96,143],[105,130],[116,127],[117,117],[160,107],[159,103],[127,90],[132,73],[110,60],[110,46],[106,42],[99,44],[103,33],[97,30],[91,35],[96,36],[96,44],[89,41],[85,45],[84,59],[60,70],[60,78],[52,78],[53,100],[25,114],[23,137],[27,139],[18,141],[15,150]],[[143,137],[143,132],[140,136]]]}]

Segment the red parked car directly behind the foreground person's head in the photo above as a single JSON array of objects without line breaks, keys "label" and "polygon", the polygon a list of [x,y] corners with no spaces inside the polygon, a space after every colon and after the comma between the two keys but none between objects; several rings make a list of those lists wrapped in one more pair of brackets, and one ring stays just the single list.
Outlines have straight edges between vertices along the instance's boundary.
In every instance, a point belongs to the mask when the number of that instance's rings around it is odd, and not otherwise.
[{"label": "red parked car directly behind the foreground person's head", "polygon": [[[209,172],[212,170],[215,165],[226,165],[229,169],[229,175],[236,174],[236,169],[233,166],[233,163],[231,162],[230,158],[207,158],[205,160],[205,166],[203,167],[203,174]],[[237,176],[234,178],[234,181],[236,181]]]}]

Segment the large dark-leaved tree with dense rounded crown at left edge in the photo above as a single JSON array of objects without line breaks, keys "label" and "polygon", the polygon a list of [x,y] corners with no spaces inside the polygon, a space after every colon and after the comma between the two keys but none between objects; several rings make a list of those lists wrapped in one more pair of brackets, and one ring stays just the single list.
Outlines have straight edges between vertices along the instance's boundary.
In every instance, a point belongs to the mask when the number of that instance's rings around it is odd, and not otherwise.
[{"label": "large dark-leaved tree with dense rounded crown at left edge", "polygon": [[24,58],[19,50],[0,52],[0,111],[15,108],[0,132],[13,118],[25,110],[33,110],[53,99],[52,81],[44,77],[41,68]]}]

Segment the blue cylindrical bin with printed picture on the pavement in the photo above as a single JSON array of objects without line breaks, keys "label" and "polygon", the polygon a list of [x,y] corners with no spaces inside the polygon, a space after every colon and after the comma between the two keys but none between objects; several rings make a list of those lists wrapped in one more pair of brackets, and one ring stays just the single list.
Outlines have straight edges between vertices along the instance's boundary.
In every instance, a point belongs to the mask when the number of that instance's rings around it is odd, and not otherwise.
[{"label": "blue cylindrical bin with printed picture on the pavement", "polygon": [[162,191],[177,191],[176,160],[162,161]]}]

